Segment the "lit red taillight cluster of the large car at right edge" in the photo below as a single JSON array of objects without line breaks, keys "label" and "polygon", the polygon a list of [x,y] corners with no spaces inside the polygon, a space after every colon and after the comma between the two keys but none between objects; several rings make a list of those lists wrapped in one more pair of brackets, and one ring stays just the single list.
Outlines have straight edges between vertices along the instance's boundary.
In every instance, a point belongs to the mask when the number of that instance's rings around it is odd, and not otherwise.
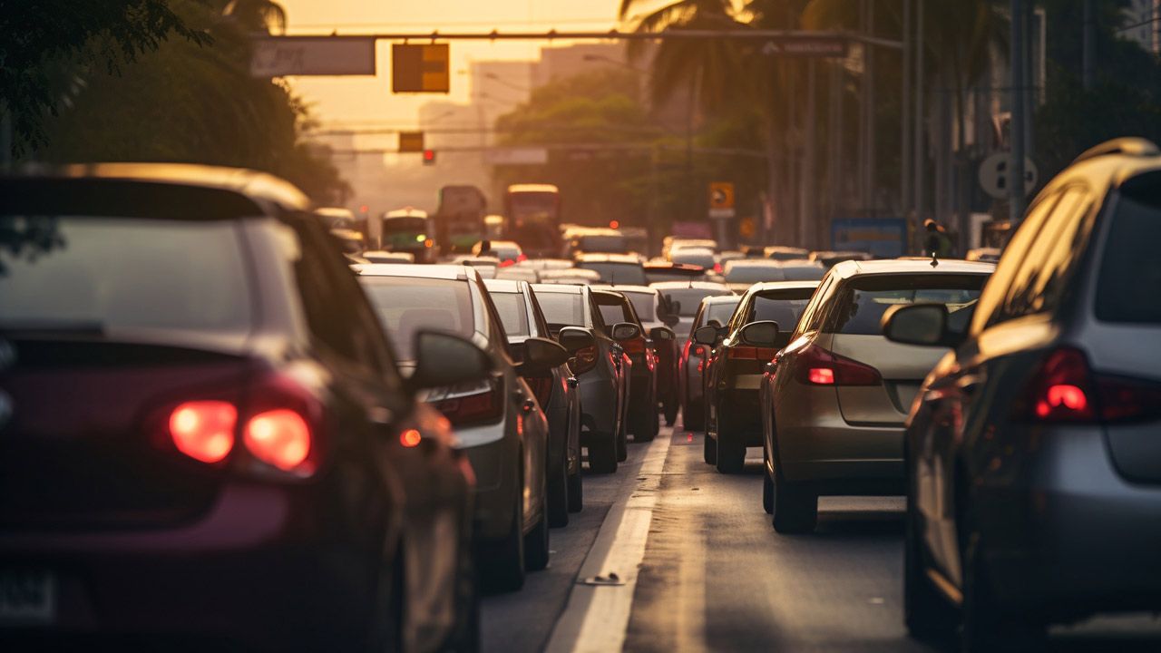
[{"label": "lit red taillight cluster of the large car at right edge", "polygon": [[1161,383],[1095,374],[1084,352],[1059,347],[1044,358],[1016,402],[1030,422],[1091,424],[1161,417]]}]

